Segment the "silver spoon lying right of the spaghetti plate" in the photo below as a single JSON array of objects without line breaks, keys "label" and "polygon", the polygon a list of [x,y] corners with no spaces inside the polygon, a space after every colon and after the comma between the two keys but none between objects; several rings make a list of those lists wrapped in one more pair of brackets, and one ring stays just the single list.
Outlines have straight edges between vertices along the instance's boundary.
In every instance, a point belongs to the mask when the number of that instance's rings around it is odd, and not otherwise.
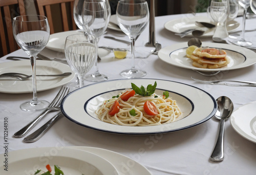
[{"label": "silver spoon lying right of the spaghetti plate", "polygon": [[223,161],[224,159],[224,128],[225,128],[225,120],[230,117],[233,111],[233,103],[232,101],[226,97],[221,96],[216,99],[218,104],[218,110],[215,114],[215,118],[220,120],[220,132],[218,139],[216,141],[216,145],[212,154],[210,156],[210,160],[212,161]]}]

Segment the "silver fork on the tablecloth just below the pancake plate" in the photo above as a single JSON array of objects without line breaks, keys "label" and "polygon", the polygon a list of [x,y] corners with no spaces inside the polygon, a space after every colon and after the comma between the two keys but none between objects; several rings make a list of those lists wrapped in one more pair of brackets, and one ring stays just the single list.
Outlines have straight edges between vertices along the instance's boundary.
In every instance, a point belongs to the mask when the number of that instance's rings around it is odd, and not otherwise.
[{"label": "silver fork on the tablecloth just below the pancake plate", "polygon": [[[229,86],[256,86],[256,82],[250,82],[250,81],[236,81],[236,80],[205,81],[205,80],[199,80],[193,77],[191,78],[195,81],[205,83],[205,84],[220,84],[224,82],[223,84],[229,85]],[[226,82],[235,82],[235,83],[243,83],[243,84],[232,84],[232,83],[226,83]]]}]

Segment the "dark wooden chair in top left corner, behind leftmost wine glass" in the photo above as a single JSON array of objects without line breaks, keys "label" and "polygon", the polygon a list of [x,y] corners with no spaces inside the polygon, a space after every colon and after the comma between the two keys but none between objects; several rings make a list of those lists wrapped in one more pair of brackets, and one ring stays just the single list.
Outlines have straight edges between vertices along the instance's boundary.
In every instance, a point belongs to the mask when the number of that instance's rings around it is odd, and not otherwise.
[{"label": "dark wooden chair in top left corner, behind leftmost wine glass", "polygon": [[12,19],[19,15],[26,15],[23,0],[0,0],[1,57],[19,48],[12,33]]}]

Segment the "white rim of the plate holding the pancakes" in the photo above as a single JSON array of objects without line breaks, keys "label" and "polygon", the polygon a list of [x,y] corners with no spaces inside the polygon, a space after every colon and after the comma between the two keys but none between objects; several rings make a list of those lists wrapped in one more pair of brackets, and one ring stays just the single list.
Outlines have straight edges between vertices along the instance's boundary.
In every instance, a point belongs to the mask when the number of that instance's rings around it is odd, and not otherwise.
[{"label": "white rim of the plate holding the pancakes", "polygon": [[[184,69],[190,69],[190,70],[204,71],[204,72],[230,71],[230,70],[242,69],[242,68],[249,67],[249,66],[256,63],[256,53],[247,49],[247,48],[243,48],[243,47],[236,46],[236,45],[228,45],[228,44],[225,44],[225,43],[215,43],[215,42],[202,42],[202,44],[205,45],[205,46],[209,46],[209,47],[216,47],[217,46],[217,48],[224,49],[224,50],[225,49],[230,50],[232,52],[237,52],[236,50],[234,50],[236,48],[237,49],[242,49],[245,52],[240,53],[240,54],[245,56],[245,61],[243,61],[243,63],[242,63],[242,64],[245,64],[245,65],[243,65],[242,67],[241,67],[241,64],[240,64],[240,65],[237,65],[235,67],[230,67],[230,68],[203,69],[203,68],[196,68],[193,65],[191,65],[190,67],[187,67],[186,65],[183,65],[183,64],[175,64],[175,63],[172,63],[172,62],[168,61],[168,59],[170,59],[169,55],[172,52],[180,50],[180,49],[187,48],[188,47],[187,42],[176,43],[174,45],[166,46],[166,47],[160,49],[159,52],[158,52],[158,58],[161,59],[162,61],[164,61],[168,64],[171,64],[171,65],[174,65],[176,67],[180,67],[180,68],[184,68]],[[179,48],[179,49],[173,49],[173,48],[176,48],[176,47]],[[234,48],[234,49],[232,49],[232,48]],[[164,53],[164,52],[167,52],[167,51],[169,53],[168,55],[166,55],[166,53]],[[254,58],[250,61],[247,57],[253,57],[252,55],[254,55]]]}]

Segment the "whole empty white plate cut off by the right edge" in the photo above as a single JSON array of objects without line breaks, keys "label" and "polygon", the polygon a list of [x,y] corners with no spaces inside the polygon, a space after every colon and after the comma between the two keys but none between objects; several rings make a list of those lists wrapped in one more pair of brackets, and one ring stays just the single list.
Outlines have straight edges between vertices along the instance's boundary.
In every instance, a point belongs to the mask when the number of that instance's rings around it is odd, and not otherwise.
[{"label": "whole empty white plate cut off by the right edge", "polygon": [[256,143],[256,101],[237,108],[230,117],[230,124],[238,134]]}]

